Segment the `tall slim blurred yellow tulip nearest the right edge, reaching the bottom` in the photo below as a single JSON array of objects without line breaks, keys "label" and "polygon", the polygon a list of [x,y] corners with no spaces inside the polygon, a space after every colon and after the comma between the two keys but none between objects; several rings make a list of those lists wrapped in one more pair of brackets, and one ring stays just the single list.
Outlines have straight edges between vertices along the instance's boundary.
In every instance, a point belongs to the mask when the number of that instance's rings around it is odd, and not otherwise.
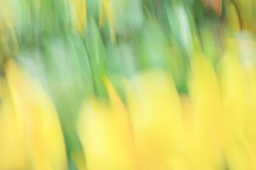
[{"label": "tall slim blurred yellow tulip nearest the right edge, reaching the bottom", "polygon": [[244,120],[247,106],[243,72],[235,51],[235,48],[227,48],[220,65],[220,84],[225,125],[224,151],[230,169],[255,170],[256,157],[244,136]]}]

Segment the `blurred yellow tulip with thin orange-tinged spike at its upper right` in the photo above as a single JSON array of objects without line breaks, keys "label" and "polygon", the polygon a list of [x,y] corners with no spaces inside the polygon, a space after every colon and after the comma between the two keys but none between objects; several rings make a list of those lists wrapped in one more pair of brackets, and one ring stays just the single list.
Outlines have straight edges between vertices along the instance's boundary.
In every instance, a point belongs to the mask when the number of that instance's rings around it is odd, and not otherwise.
[{"label": "blurred yellow tulip with thin orange-tinged spike at its upper right", "polygon": [[111,104],[90,99],[81,108],[78,133],[88,170],[134,170],[134,145],[128,114],[110,82]]}]

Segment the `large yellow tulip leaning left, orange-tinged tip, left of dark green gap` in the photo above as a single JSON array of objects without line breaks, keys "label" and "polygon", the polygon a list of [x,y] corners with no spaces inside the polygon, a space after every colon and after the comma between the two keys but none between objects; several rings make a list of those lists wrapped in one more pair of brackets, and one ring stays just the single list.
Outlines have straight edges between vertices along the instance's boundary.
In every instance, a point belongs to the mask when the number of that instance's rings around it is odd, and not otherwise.
[{"label": "large yellow tulip leaning left, orange-tinged tip, left of dark green gap", "polygon": [[64,137],[51,100],[41,85],[13,60],[6,65],[6,79],[22,121],[31,166],[37,170],[66,169]]}]

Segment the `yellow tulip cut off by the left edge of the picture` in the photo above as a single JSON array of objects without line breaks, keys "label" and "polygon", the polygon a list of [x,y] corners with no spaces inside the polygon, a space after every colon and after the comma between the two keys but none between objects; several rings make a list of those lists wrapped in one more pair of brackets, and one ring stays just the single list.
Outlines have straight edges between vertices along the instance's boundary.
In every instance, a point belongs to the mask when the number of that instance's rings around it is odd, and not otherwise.
[{"label": "yellow tulip cut off by the left edge of the picture", "polygon": [[[2,82],[3,81],[3,82]],[[20,128],[12,98],[6,85],[1,79],[1,106],[0,106],[0,169],[25,170],[27,155],[24,136]]]}]

